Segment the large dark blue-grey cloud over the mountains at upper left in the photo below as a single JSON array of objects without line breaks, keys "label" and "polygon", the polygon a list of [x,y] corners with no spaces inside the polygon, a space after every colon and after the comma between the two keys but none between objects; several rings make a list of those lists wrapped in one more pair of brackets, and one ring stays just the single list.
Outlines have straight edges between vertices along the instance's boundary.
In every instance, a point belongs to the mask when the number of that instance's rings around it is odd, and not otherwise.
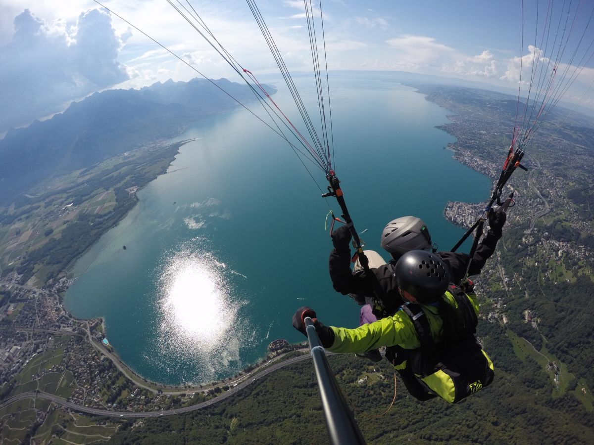
[{"label": "large dark blue-grey cloud over the mountains at upper left", "polygon": [[127,68],[117,61],[121,46],[105,11],[83,12],[69,25],[48,23],[25,9],[14,19],[11,42],[0,47],[0,131],[128,80]]}]

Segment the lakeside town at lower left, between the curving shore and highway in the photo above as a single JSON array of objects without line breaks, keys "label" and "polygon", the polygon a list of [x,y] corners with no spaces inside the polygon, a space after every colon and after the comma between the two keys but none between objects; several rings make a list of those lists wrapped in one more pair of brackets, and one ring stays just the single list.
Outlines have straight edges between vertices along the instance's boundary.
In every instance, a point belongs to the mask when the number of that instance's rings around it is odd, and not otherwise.
[{"label": "lakeside town at lower left, between the curving shore and highway", "polygon": [[[279,339],[261,363],[232,378],[198,386],[149,382],[113,354],[102,319],[77,320],[59,301],[68,281],[49,289],[0,282],[0,387],[3,398],[30,390],[76,405],[113,411],[165,411],[201,402],[242,382],[273,358],[303,348]],[[5,303],[4,303],[5,301]]]}]

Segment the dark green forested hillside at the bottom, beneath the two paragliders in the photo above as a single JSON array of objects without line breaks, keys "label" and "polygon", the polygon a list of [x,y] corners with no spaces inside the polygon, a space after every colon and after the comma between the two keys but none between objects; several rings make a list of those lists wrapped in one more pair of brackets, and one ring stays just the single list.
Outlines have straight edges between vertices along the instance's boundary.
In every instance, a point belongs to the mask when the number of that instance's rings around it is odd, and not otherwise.
[{"label": "dark green forested hillside at the bottom, beneath the two paragliders", "polygon": [[[573,395],[555,398],[550,379],[530,359],[516,357],[504,328],[481,323],[485,347],[498,365],[495,382],[458,405],[418,402],[387,361],[354,355],[329,358],[365,440],[370,444],[588,443],[594,418]],[[504,364],[504,365],[503,365]],[[375,371],[374,371],[375,369]],[[358,383],[359,380],[364,380]],[[175,417],[129,421],[110,443],[328,443],[320,394],[310,360],[271,374],[213,408]]]}]

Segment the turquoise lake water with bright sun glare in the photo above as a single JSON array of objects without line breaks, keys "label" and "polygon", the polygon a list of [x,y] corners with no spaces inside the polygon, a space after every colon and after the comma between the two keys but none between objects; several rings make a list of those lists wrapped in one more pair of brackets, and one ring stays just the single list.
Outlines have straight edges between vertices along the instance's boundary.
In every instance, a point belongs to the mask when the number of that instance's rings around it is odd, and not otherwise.
[{"label": "turquoise lake water with bright sun glare", "polygon": [[[444,220],[446,202],[481,201],[489,180],[443,150],[454,138],[434,126],[447,110],[393,82],[331,87],[334,167],[356,228],[368,229],[366,248],[380,252],[386,222],[413,214],[449,249],[463,231]],[[315,94],[301,92],[306,101]],[[289,109],[283,94],[275,100]],[[299,306],[328,325],[355,326],[358,307],[327,272],[324,217],[328,205],[340,209],[286,142],[245,110],[201,120],[176,140],[189,138],[197,140],[169,173],[78,261],[68,309],[105,317],[125,363],[175,384],[230,376],[274,339],[302,341],[290,324]],[[324,174],[311,173],[325,191]]]}]

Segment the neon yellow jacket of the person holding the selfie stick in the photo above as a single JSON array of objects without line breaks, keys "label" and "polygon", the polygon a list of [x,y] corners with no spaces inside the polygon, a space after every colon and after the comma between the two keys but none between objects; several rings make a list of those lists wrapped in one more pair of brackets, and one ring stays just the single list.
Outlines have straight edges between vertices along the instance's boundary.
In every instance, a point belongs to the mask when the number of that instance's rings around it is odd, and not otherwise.
[{"label": "neon yellow jacket of the person holding the selfie stick", "polygon": [[[474,293],[466,295],[478,316],[479,305],[475,301],[476,295]],[[454,307],[458,307],[450,291],[445,291],[445,298]],[[434,341],[440,342],[443,322],[438,315],[437,307],[427,304],[422,304],[421,307],[426,314]],[[326,349],[331,352],[366,352],[382,346],[394,345],[399,345],[404,349],[421,347],[412,320],[402,310],[397,311],[391,317],[386,317],[369,325],[359,326],[356,329],[336,328],[334,326],[330,326],[330,329],[334,331],[334,343],[330,348]]]}]

